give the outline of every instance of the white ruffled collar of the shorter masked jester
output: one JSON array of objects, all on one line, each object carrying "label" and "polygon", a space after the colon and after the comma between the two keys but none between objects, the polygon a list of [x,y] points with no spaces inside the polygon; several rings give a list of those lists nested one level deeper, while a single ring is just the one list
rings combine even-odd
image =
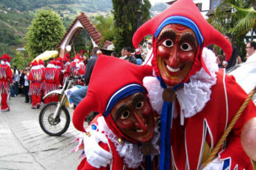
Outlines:
[{"label": "white ruffled collar of the shorter masked jester", "polygon": [[[100,133],[104,133],[108,136],[109,140],[113,142],[116,147],[116,151],[118,151],[119,156],[124,159],[124,163],[129,168],[137,168],[140,166],[140,163],[143,161],[143,153],[141,153],[141,147],[138,145],[131,143],[127,140],[124,140],[122,144],[118,142],[118,138],[113,131],[109,129],[107,123],[104,118],[101,116],[98,118],[98,131]],[[154,129],[154,138],[152,139],[152,145],[156,149],[156,153],[152,153],[152,158],[158,154],[159,146],[157,142],[160,138],[160,133],[158,132],[158,128]]]}]

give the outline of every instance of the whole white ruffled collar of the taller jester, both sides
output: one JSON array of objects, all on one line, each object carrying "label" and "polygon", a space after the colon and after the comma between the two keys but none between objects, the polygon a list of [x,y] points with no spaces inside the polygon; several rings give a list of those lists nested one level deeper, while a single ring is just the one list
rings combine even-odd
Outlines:
[{"label": "whole white ruffled collar of the taller jester, both sides", "polygon": [[[196,74],[190,76],[190,82],[184,83],[184,87],[176,91],[176,96],[181,106],[181,125],[183,125],[184,118],[190,118],[205,107],[206,103],[210,100],[212,93],[211,87],[216,84],[216,73],[219,68],[216,63],[216,56],[207,48],[203,48],[202,52],[203,61],[208,68],[211,75],[209,75],[203,68]],[[145,81],[144,86],[147,88],[150,102],[152,107],[161,114],[161,107],[163,105],[163,88],[157,79],[154,81]],[[159,107],[160,106],[160,107]],[[173,103],[173,116],[177,117],[175,102]]]}]

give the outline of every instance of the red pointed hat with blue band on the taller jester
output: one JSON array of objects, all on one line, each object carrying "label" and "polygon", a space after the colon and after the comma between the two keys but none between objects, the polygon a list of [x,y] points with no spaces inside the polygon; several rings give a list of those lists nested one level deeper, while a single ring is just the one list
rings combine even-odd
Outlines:
[{"label": "red pointed hat with blue band on the taller jester", "polygon": [[138,44],[140,43],[140,41],[143,40],[145,36],[147,36],[148,34],[153,35],[152,45],[154,58],[152,59],[152,66],[154,67],[156,76],[161,76],[158,71],[158,65],[156,63],[156,41],[158,39],[159,33],[165,27],[165,25],[172,23],[185,25],[193,30],[194,34],[196,35],[196,40],[199,44],[199,48],[196,52],[194,65],[188,73],[187,77],[185,78],[184,82],[188,81],[188,78],[195,72],[199,71],[201,67],[203,67],[204,70],[208,72],[208,74],[210,74],[201,57],[203,47],[206,47],[210,44],[218,45],[225,52],[226,61],[230,59],[230,56],[232,54],[232,46],[224,38],[224,36],[217,30],[215,30],[212,25],[210,25],[210,23],[208,23],[203,18],[201,12],[192,0],[178,0],[161,14],[158,14],[158,16],[150,19],[140,28],[138,28],[132,39],[134,47],[137,48]]}]

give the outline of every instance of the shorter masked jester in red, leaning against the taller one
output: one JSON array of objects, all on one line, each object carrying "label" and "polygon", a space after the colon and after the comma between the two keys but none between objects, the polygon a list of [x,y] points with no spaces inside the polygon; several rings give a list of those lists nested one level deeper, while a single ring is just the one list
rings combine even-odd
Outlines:
[{"label": "shorter masked jester in red, leaning against the taller one", "polygon": [[[95,136],[100,146],[113,154],[111,163],[107,162],[101,169],[139,169],[143,153],[158,154],[159,135],[157,132],[154,134],[155,115],[147,89],[143,86],[143,78],[151,75],[152,67],[149,65],[138,66],[111,56],[98,57],[86,97],[75,108],[73,125],[79,131],[86,132],[80,137],[84,149],[90,147],[89,138]],[[85,130],[84,120],[91,111],[98,111],[100,115]],[[97,149],[93,149],[96,152]],[[92,162],[92,165],[89,164],[90,159],[86,156],[77,169],[98,169],[93,167]],[[97,157],[92,159],[101,161]],[[152,167],[150,158],[146,164]]]}]

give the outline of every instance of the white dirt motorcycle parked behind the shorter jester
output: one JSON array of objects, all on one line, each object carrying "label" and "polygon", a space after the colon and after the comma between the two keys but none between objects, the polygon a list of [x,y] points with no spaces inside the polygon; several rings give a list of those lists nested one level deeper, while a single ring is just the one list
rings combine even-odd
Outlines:
[{"label": "white dirt motorcycle parked behind the shorter jester", "polygon": [[[68,129],[71,118],[65,104],[67,100],[70,101],[69,95],[71,92],[78,89],[79,86],[76,86],[76,84],[79,84],[79,82],[80,77],[69,76],[66,78],[62,89],[56,89],[44,96],[44,98],[52,94],[61,96],[59,102],[51,102],[44,105],[39,114],[40,127],[49,136],[61,136]],[[69,107],[72,108],[72,104],[69,104]],[[96,113],[92,112],[86,117],[86,122],[90,123],[95,115]]]}]

